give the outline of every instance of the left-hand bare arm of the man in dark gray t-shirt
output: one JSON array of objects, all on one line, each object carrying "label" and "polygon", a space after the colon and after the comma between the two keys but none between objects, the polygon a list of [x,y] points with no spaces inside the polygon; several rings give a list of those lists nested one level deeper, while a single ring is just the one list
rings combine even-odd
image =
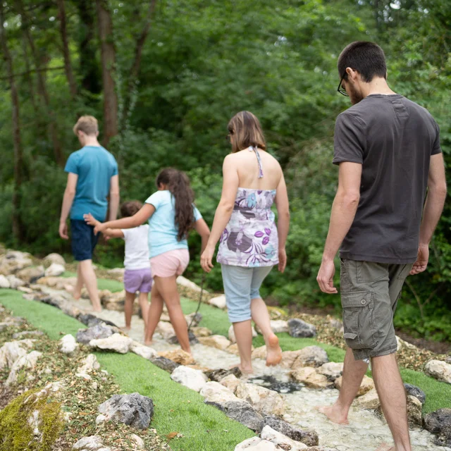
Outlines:
[{"label": "left-hand bare arm of the man in dark gray t-shirt", "polygon": [[338,292],[333,286],[335,264],[333,259],[340,249],[342,241],[352,226],[359,206],[362,164],[340,163],[338,190],[332,205],[329,233],[324,247],[323,261],[319,268],[318,280],[321,291],[333,294]]}]

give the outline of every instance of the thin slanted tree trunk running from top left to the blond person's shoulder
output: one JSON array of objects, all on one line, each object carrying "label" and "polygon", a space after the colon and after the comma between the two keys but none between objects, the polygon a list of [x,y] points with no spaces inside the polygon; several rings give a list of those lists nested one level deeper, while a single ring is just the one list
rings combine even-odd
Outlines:
[{"label": "thin slanted tree trunk running from top left to the blond person's shoulder", "polygon": [[30,33],[30,23],[28,21],[28,16],[27,13],[25,12],[25,8],[23,7],[22,0],[16,0],[16,6],[22,19],[23,31],[25,37],[27,38],[28,45],[30,46],[32,58],[35,61],[35,66],[37,69],[37,89],[39,94],[42,96],[42,99],[44,99],[44,105],[47,109],[47,117],[49,118],[49,132],[51,141],[54,146],[55,161],[58,164],[58,166],[63,166],[64,165],[63,150],[61,148],[61,142],[58,137],[58,130],[56,128],[54,113],[53,111],[51,111],[50,107],[49,94],[47,93],[47,87],[45,85],[44,71],[39,70],[41,62],[39,61],[39,54],[37,53],[35,42],[33,41],[32,35]]}]

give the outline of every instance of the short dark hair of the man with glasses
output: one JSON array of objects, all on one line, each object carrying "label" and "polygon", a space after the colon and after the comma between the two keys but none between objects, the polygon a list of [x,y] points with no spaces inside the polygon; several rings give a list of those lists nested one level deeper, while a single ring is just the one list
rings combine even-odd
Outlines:
[{"label": "short dark hair of the man with glasses", "polygon": [[338,74],[347,79],[346,68],[357,70],[362,80],[371,82],[374,77],[387,78],[387,63],[383,49],[374,42],[356,41],[347,45],[338,57]]}]

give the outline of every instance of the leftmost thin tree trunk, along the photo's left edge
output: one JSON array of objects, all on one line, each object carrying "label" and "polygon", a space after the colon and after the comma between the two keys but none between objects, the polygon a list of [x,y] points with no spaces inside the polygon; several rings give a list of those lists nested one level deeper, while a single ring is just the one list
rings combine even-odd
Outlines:
[{"label": "leftmost thin tree trunk, along the photo's left edge", "polygon": [[13,236],[22,241],[23,227],[20,221],[20,187],[22,185],[22,142],[20,141],[20,116],[19,116],[19,96],[14,79],[13,59],[8,48],[8,41],[5,35],[4,5],[0,1],[0,39],[3,57],[8,71],[9,87],[11,89],[11,111],[13,121],[13,143],[14,143],[14,190],[13,190]]}]

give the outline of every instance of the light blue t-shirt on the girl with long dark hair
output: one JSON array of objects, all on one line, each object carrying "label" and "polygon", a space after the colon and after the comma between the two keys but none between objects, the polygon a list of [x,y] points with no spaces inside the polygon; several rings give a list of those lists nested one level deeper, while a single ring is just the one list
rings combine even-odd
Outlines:
[{"label": "light blue t-shirt on the girl with long dark hair", "polygon": [[[157,191],[147,199],[155,212],[149,219],[150,258],[174,249],[188,249],[187,240],[178,241],[178,230],[175,228],[175,198],[168,190]],[[199,210],[193,205],[194,221],[202,218]]]}]

